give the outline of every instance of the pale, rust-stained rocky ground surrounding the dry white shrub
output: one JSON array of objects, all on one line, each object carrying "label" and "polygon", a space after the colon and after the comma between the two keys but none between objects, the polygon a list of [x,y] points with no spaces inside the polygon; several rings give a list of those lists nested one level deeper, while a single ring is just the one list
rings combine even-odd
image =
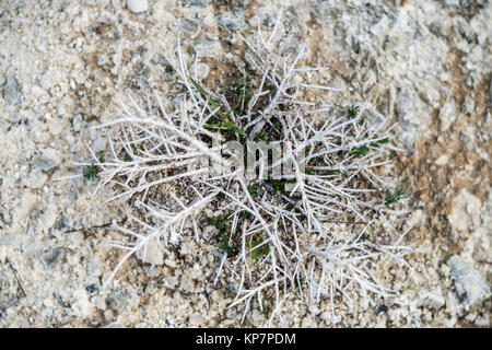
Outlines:
[{"label": "pale, rust-stained rocky ground surrounding the dry white shrub", "polygon": [[[192,236],[159,265],[133,258],[102,289],[120,252],[104,225],[125,205],[93,196],[73,162],[91,126],[129,91],[172,93],[164,54],[179,34],[207,86],[244,55],[236,32],[271,31],[283,5],[284,45],[305,43],[333,103],[366,102],[398,124],[410,150],[396,161],[412,209],[413,271],[388,267],[397,295],[368,307],[291,301],[285,326],[490,327],[492,250],[489,1],[87,0],[0,3],[0,326],[241,326],[231,285]],[[103,194],[104,195],[104,194]],[[103,226],[103,228],[102,228]],[[243,326],[261,326],[254,308]]]}]

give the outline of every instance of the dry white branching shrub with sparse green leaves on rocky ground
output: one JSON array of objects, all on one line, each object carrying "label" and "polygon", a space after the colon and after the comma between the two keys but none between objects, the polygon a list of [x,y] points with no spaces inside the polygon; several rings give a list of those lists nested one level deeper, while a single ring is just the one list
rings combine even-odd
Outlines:
[{"label": "dry white branching shrub with sparse green leaves on rocky ground", "polygon": [[[167,60],[185,93],[173,101],[173,110],[157,95],[148,97],[145,107],[129,98],[120,103],[115,120],[99,127],[109,136],[110,155],[91,152],[92,161],[80,164],[98,167],[96,190],[105,185],[119,189],[109,200],[140,202],[133,222],[148,232],[117,229],[130,241],[115,243],[126,254],[106,283],[132,254],[147,253],[153,240],[168,249],[171,235],[180,235],[185,223],[197,231],[210,220],[203,210],[211,202],[227,212],[221,219],[226,231],[216,234],[210,248],[219,257],[214,283],[234,279],[236,298],[230,306],[243,303],[246,315],[256,302],[270,312],[268,325],[273,316],[283,319],[290,295],[326,298],[333,314],[337,295],[387,296],[391,291],[374,269],[383,257],[410,267],[403,259],[411,252],[402,244],[407,232],[386,244],[373,235],[374,225],[384,222],[391,240],[397,230],[388,218],[403,212],[384,205],[394,189],[389,156],[398,151],[389,144],[391,128],[386,121],[370,124],[362,110],[353,117],[345,106],[303,101],[306,89],[339,89],[303,81],[306,72],[325,69],[300,67],[304,47],[294,55],[272,51],[280,26],[267,40],[260,27],[255,40],[243,37],[258,77],[257,89],[249,91],[243,72],[239,103],[198,89],[178,49]],[[280,166],[291,172],[258,180],[248,178],[244,167],[232,170],[232,158],[215,144],[227,139],[223,131],[242,142],[269,135],[273,144],[285,148],[262,171],[270,174]]]}]

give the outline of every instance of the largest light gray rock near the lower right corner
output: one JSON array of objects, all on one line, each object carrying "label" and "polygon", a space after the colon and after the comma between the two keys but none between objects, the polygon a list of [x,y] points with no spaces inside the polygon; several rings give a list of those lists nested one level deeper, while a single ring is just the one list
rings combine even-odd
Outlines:
[{"label": "largest light gray rock near the lower right corner", "polygon": [[470,305],[479,304],[487,298],[489,285],[483,281],[479,271],[457,255],[450,257],[447,264],[450,267],[450,273],[459,296],[465,296]]}]

